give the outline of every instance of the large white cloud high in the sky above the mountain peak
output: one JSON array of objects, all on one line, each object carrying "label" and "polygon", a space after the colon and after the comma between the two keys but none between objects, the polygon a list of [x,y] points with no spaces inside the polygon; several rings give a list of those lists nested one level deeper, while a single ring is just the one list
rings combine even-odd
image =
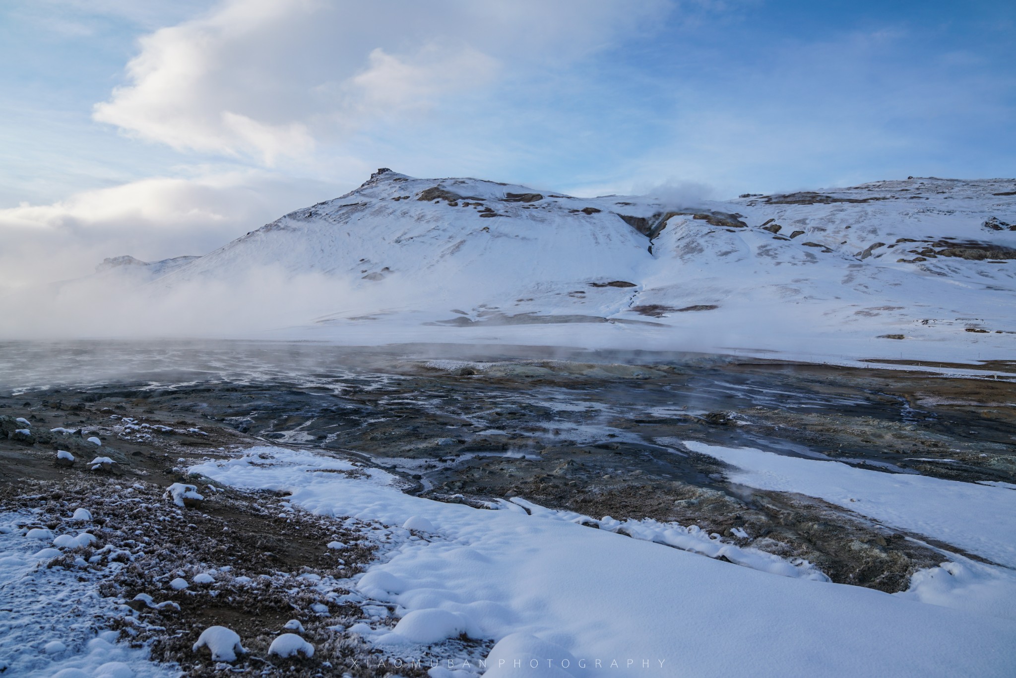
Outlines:
[{"label": "large white cloud high in the sky above the mountain peak", "polygon": [[379,119],[416,118],[500,75],[538,77],[665,6],[229,0],[141,38],[128,84],[93,117],[177,149],[272,165]]}]

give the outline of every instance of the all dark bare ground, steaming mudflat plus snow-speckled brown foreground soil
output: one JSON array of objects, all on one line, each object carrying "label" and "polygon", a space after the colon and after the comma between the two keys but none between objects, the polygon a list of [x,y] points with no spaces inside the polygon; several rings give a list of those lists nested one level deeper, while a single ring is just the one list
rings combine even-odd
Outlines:
[{"label": "all dark bare ground, steaming mudflat plus snow-speckled brown foreground soil", "polygon": [[[930,540],[814,498],[733,485],[721,463],[656,441],[750,445],[884,473],[1016,483],[1016,387],[1001,378],[538,349],[509,360],[507,352],[470,356],[463,347],[426,355],[420,347],[309,345],[6,348],[8,360],[50,360],[76,383],[41,386],[57,380],[45,371],[10,372],[11,387],[0,391],[0,508],[43,507],[58,520],[62,502],[88,493],[102,504],[97,515],[108,543],[158,544],[142,549],[104,594],[177,602],[179,611],[134,603],[139,614],[124,633],[195,676],[215,672],[207,655],[190,651],[215,623],[241,633],[252,652],[238,666],[256,673],[391,670],[344,630],[365,617],[364,603],[322,603],[308,583],[313,576],[300,577],[341,580],[360,571],[392,539],[376,538],[387,535],[383,526],[291,510],[280,516],[284,498],[264,493],[204,492],[198,508],[162,498],[170,484],[187,480],[186,467],[249,445],[309,447],[385,468],[405,480],[406,491],[441,501],[480,507],[518,496],[594,517],[698,525],[741,546],[807,559],[834,581],[886,592],[905,590],[915,570],[944,560]],[[110,366],[109,356],[127,353]],[[17,417],[30,422],[30,436],[15,432],[23,428]],[[50,433],[55,427],[71,432]],[[57,449],[72,452],[74,466],[57,467]],[[113,470],[88,471],[97,454],[113,458]],[[329,552],[329,540],[351,546]],[[225,566],[232,570],[224,570],[214,596],[167,594],[169,572],[190,578]],[[237,576],[257,585],[237,585]],[[327,612],[313,612],[315,602]],[[269,661],[267,644],[291,618],[304,623],[317,652],[311,660]],[[484,648],[468,642],[460,651],[482,657]]]}]

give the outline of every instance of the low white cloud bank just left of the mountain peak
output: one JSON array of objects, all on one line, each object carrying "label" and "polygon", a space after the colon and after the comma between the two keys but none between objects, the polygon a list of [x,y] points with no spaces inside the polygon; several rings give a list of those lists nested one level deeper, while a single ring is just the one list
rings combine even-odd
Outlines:
[{"label": "low white cloud bank just left of the mountain peak", "polygon": [[0,209],[0,291],[85,275],[110,256],[206,254],[341,192],[317,181],[234,172],[144,179],[52,204]]}]

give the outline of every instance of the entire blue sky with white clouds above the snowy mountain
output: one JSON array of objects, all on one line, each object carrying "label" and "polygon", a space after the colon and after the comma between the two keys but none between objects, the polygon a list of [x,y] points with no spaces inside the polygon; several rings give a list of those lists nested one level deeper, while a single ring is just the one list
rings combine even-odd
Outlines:
[{"label": "entire blue sky with white clouds above the snowy mountain", "polygon": [[13,0],[0,229],[90,268],[380,166],[715,198],[1012,177],[1014,37],[1004,2]]}]

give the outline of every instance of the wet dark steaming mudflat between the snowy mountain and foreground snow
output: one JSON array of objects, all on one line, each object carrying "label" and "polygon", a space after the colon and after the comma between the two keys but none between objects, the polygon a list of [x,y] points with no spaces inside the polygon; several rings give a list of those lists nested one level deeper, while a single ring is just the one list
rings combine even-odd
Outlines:
[{"label": "wet dark steaming mudflat between the snowy mountain and foreground snow", "polygon": [[[748,491],[713,457],[661,439],[1016,483],[1016,386],[918,368],[226,343],[8,345],[0,367],[7,482],[89,477],[80,463],[54,467],[57,448],[107,455],[114,477],[167,486],[208,456],[304,447],[387,469],[407,492],[441,501],[517,496],[597,518],[697,525],[887,592],[944,556],[923,536],[818,499]],[[17,417],[30,439],[12,433]],[[47,433],[56,427],[70,433]]]}]

